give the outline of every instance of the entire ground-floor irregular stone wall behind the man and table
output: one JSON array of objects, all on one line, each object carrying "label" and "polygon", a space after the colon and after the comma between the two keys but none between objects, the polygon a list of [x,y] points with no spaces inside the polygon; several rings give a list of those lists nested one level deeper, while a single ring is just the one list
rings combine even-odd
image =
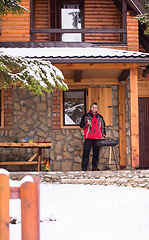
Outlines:
[{"label": "entire ground-floor irregular stone wall behind the man and table", "polygon": [[[107,87],[107,86],[106,86]],[[111,87],[111,86],[110,86]],[[126,86],[126,105],[129,102],[129,86]],[[112,86],[113,126],[106,127],[108,137],[119,137],[118,126],[118,86]],[[130,117],[126,106],[127,163],[130,166]],[[34,142],[50,141],[51,150],[45,149],[42,157],[51,157],[52,171],[80,171],[83,151],[82,129],[53,129],[52,127],[52,93],[37,96],[29,91],[13,87],[13,122],[11,130],[0,130],[1,142],[14,142],[15,134],[21,140],[32,137]],[[119,147],[116,147],[119,156]],[[28,160],[36,149],[0,149],[0,161]],[[109,148],[100,151],[100,170],[108,168]],[[90,156],[88,170],[91,170]],[[113,159],[113,156],[112,156]],[[114,162],[113,162],[114,163]],[[9,171],[37,170],[37,166],[8,166]],[[112,170],[115,165],[112,165]]]}]

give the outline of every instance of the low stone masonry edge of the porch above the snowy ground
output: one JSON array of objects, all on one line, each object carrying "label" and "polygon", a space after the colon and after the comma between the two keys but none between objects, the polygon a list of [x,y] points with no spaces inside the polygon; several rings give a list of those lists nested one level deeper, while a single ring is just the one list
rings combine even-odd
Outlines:
[{"label": "low stone masonry edge of the porch above the snowy ground", "polygon": [[24,176],[39,177],[41,182],[56,184],[99,184],[119,187],[139,187],[149,189],[149,170],[124,171],[63,171],[63,172],[10,172],[11,180],[21,180]]}]

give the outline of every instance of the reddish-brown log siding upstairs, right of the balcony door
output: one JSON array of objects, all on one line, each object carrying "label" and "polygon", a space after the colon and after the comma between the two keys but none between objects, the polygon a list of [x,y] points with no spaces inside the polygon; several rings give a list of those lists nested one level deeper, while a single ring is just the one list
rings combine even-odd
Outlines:
[{"label": "reddish-brown log siding upstairs, right of the balcony door", "polygon": [[[85,28],[117,29],[121,26],[121,12],[112,0],[85,0]],[[120,34],[85,34],[86,42],[117,42]]]}]

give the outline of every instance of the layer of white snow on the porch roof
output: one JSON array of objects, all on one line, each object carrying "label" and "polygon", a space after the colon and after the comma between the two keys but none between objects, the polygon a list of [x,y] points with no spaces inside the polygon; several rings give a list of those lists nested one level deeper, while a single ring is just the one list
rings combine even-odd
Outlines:
[{"label": "layer of white snow on the porch roof", "polygon": [[4,54],[11,55],[11,56],[22,56],[22,57],[29,57],[29,58],[97,58],[97,57],[142,57],[148,58],[148,53],[142,52],[134,52],[134,51],[125,51],[125,50],[117,50],[117,49],[109,49],[109,48],[0,48]]}]

